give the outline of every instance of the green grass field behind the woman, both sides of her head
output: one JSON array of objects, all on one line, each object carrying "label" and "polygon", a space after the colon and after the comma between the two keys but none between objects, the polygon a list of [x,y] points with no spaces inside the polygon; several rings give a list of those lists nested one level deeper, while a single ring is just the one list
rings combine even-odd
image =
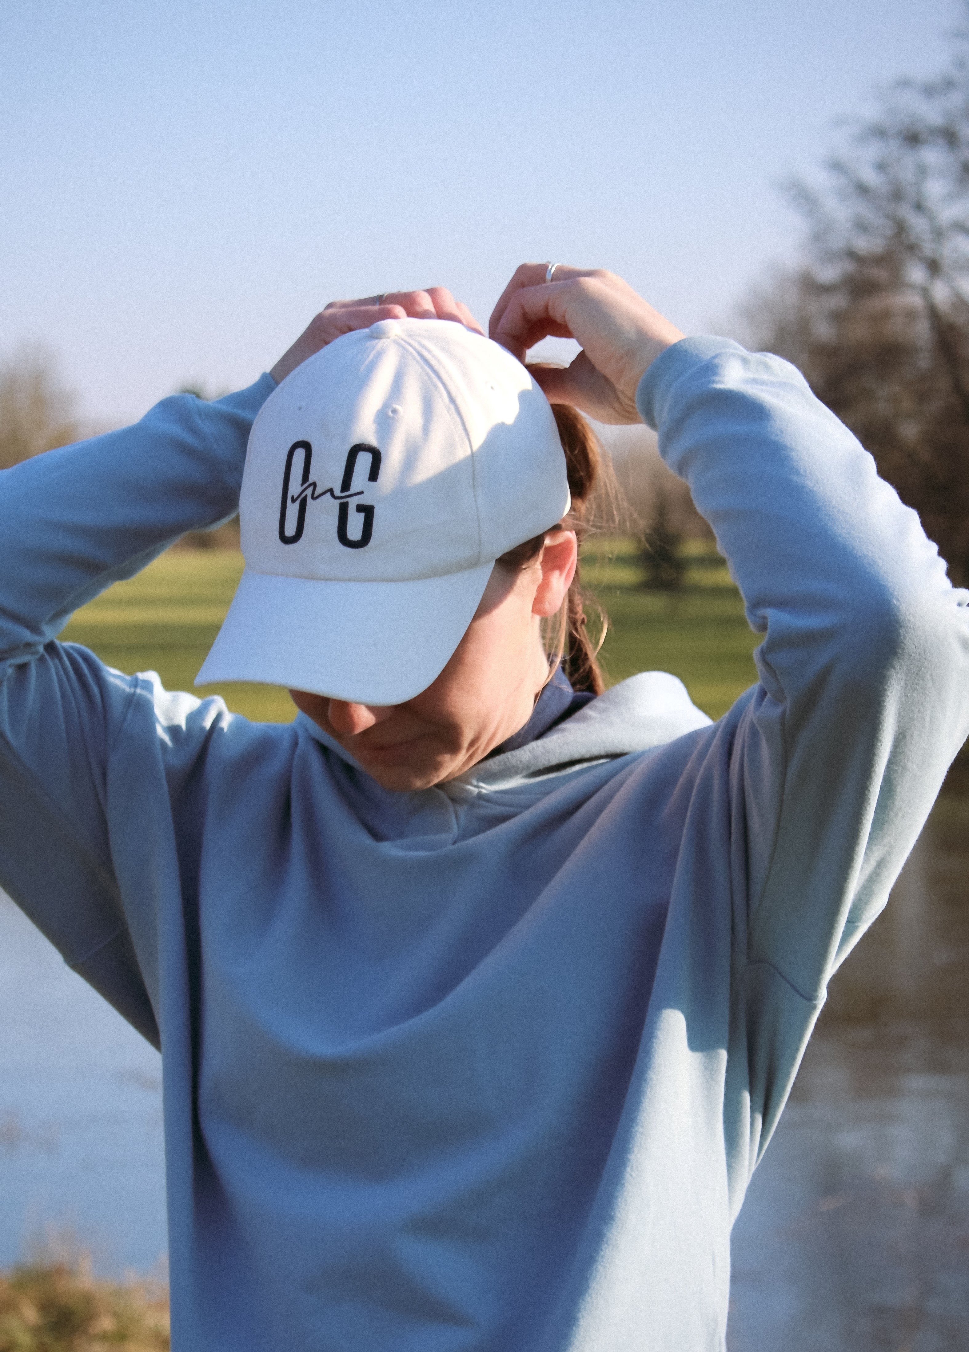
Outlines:
[{"label": "green grass field behind the woman, both sides of her head", "polygon": [[[719,557],[700,545],[687,557],[682,591],[645,592],[635,544],[595,541],[584,552],[584,580],[610,615],[601,654],[610,680],[673,672],[695,703],[719,718],[757,679],[750,660],[757,639]],[[242,557],[230,549],[172,550],[80,610],[62,637],[119,671],[157,671],[169,690],[191,691],[241,572]],[[289,722],[295,714],[274,685],[207,685],[197,694],[219,694],[253,719]]]}]

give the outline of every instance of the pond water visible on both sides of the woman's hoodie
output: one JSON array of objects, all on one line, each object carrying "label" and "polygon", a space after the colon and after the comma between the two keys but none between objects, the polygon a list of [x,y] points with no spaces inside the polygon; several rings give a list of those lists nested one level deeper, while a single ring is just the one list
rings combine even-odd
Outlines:
[{"label": "pond water visible on both sides of the woman's hoodie", "polygon": [[[969,795],[831,986],[734,1229],[731,1352],[969,1352]],[[159,1059],[0,895],[0,1265],[166,1248]]]}]

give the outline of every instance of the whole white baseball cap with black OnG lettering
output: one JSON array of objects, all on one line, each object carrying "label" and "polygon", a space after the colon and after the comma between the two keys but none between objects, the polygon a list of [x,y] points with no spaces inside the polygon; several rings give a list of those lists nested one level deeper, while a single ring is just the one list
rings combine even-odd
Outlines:
[{"label": "whole white baseball cap with black OnG lettering", "polygon": [[508,352],[441,319],[345,334],[253,423],[246,566],[195,683],[412,699],[461,642],[495,560],[568,510],[551,408]]}]

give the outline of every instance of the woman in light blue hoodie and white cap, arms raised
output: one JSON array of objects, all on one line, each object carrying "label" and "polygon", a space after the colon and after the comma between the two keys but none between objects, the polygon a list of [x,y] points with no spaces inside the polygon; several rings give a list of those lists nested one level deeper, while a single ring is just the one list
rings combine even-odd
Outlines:
[{"label": "woman in light blue hoodie and white cap, arms raised", "polygon": [[[966,595],[791,366],[526,265],[492,337],[574,337],[549,399],[658,427],[764,634],[716,725],[657,673],[573,698],[551,416],[446,292],[387,300],[4,475],[0,882],[161,1042],[176,1349],[722,1348],[731,1220],[966,733]],[[235,510],[257,414],[209,662],[292,727],[53,642]]]}]

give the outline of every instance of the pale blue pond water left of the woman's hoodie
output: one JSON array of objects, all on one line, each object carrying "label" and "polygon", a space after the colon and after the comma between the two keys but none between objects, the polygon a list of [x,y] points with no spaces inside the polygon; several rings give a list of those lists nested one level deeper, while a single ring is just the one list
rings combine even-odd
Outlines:
[{"label": "pale blue pond water left of the woman's hoodie", "polygon": [[65,1242],[164,1264],[161,1057],[0,892],[0,1267]]}]

